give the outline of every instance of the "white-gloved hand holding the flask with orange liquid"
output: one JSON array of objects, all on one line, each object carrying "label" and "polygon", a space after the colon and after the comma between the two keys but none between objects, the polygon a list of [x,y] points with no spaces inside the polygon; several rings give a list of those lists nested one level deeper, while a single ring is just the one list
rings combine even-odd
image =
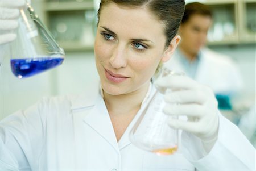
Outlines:
[{"label": "white-gloved hand holding the flask with orange liquid", "polygon": [[170,117],[169,126],[199,137],[209,153],[218,136],[218,103],[213,91],[186,76],[163,77],[155,85],[172,90],[164,95],[164,113],[188,118],[179,120]]}]

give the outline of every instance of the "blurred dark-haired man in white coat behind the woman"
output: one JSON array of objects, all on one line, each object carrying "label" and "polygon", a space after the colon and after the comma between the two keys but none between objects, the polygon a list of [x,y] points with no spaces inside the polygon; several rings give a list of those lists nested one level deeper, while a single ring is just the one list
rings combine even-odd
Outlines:
[{"label": "blurred dark-haired man in white coat behind the woman", "polygon": [[241,74],[227,56],[205,47],[213,16],[207,5],[188,3],[179,28],[181,42],[165,66],[184,72],[214,91],[219,109],[232,109],[230,98],[242,88]]}]

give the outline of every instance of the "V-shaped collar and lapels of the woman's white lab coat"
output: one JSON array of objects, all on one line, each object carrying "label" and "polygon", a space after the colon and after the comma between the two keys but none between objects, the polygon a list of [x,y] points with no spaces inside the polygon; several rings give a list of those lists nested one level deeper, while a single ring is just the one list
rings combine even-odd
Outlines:
[{"label": "V-shaped collar and lapels of the woman's white lab coat", "polygon": [[84,122],[93,128],[94,131],[100,134],[106,141],[108,141],[108,143],[112,145],[115,151],[119,153],[121,149],[131,144],[129,139],[131,128],[133,128],[134,124],[137,122],[138,118],[147,107],[147,104],[155,94],[155,91],[155,87],[150,84],[146,97],[143,99],[141,109],[126,128],[126,131],[122,135],[119,142],[117,142],[114,134],[114,128],[108,114],[108,109],[106,109],[105,106],[100,84],[97,86],[97,90],[93,89],[88,93],[79,95],[79,97],[72,98],[71,109],[81,110],[84,108],[92,107],[92,109],[88,111],[88,114],[86,114]]}]

